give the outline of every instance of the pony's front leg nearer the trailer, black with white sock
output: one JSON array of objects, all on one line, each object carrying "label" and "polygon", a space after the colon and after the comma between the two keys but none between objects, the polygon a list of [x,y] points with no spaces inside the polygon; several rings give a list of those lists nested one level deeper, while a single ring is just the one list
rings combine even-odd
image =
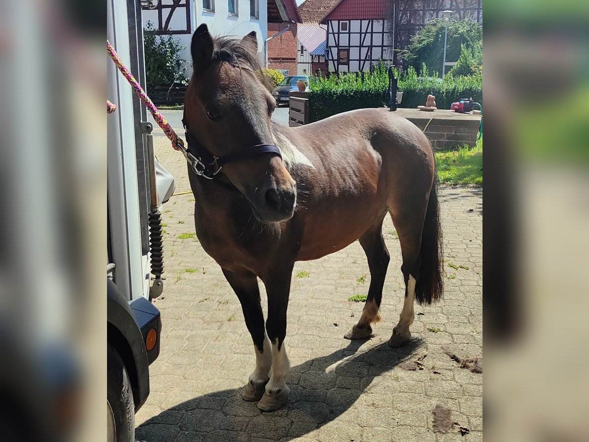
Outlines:
[{"label": "pony's front leg nearer the trailer, black with white sock", "polygon": [[270,378],[272,367],[272,345],[264,328],[264,315],[260,305],[260,291],[256,275],[252,272],[230,272],[223,269],[223,273],[231,288],[236,293],[247,329],[252,335],[254,351],[256,352],[256,368],[252,372],[246,386],[241,390],[241,398],[246,401],[259,401],[264,394],[264,387]]}]

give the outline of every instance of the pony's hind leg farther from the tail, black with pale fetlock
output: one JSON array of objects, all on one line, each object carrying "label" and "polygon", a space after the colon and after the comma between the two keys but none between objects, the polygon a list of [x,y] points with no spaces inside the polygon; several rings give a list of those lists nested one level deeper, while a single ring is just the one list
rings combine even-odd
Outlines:
[{"label": "pony's hind leg farther from the tail, black with pale fetlock", "polygon": [[380,321],[378,314],[382,288],[385,285],[386,269],[389,266],[389,250],[382,238],[382,221],[386,212],[379,216],[376,222],[360,237],[360,245],[368,258],[370,269],[370,288],[366,298],[366,305],[358,324],[344,335],[346,339],[363,339],[372,335],[372,324]]}]

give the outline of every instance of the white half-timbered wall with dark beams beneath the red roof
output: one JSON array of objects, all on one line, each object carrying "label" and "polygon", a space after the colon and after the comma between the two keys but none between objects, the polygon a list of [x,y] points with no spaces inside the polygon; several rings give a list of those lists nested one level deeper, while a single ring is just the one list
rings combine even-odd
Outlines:
[{"label": "white half-timbered wall with dark beams beneath the red roof", "polygon": [[[342,25],[345,23],[346,25]],[[327,68],[335,72],[366,72],[380,59],[393,59],[385,20],[330,20],[327,22]],[[338,50],[348,50],[348,65],[338,63]]]}]

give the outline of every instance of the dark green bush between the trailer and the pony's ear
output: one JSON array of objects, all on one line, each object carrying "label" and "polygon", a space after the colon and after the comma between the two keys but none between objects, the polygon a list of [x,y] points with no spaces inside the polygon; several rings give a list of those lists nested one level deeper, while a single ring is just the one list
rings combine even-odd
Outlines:
[{"label": "dark green bush between the trailer and the pony's ear", "polygon": [[171,35],[156,35],[153,23],[148,21],[143,30],[143,48],[148,91],[173,84],[188,84],[188,79],[184,76],[186,60],[180,58],[180,52],[186,47],[180,45],[179,39],[174,39]]}]

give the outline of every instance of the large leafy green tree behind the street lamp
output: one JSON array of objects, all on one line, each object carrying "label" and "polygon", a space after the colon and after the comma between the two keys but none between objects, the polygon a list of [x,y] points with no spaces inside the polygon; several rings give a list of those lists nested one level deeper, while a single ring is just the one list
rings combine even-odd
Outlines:
[{"label": "large leafy green tree behind the street lamp", "polygon": [[[413,35],[411,44],[401,52],[407,66],[412,66],[421,74],[422,64],[425,63],[434,71],[442,72],[444,62],[444,33],[445,21],[435,18],[429,21],[417,34]],[[481,45],[482,65],[482,28],[475,21],[448,21],[448,44],[446,45],[446,61],[457,61],[462,52],[462,46],[472,52],[472,48]],[[422,74],[427,76],[427,74]]]}]

